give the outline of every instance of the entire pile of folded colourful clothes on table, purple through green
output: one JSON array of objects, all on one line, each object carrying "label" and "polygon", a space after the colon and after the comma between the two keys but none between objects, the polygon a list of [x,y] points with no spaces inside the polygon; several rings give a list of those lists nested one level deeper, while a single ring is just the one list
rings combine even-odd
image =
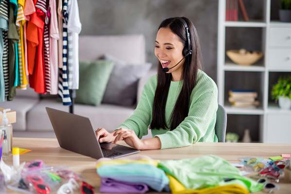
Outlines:
[{"label": "entire pile of folded colourful clothes on table, purple through green", "polygon": [[249,194],[263,184],[241,176],[225,159],[202,156],[158,162],[152,159],[100,159],[101,193]]}]

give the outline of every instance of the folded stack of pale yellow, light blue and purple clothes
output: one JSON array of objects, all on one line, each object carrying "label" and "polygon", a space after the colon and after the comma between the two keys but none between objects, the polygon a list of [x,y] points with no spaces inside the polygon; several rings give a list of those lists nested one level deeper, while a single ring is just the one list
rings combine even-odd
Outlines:
[{"label": "folded stack of pale yellow, light blue and purple clothes", "polygon": [[168,191],[169,179],[152,159],[113,159],[97,163],[101,193],[145,193],[149,188]]}]

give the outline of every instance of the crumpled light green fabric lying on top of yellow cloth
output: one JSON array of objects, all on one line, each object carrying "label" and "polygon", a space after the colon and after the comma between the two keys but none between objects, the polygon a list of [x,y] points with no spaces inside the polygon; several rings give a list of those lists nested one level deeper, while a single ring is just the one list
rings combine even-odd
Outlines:
[{"label": "crumpled light green fabric lying on top of yellow cloth", "polygon": [[217,156],[167,160],[160,162],[158,167],[179,180],[187,189],[202,189],[228,184],[242,185],[250,192],[263,189],[262,184],[241,176],[236,167]]}]

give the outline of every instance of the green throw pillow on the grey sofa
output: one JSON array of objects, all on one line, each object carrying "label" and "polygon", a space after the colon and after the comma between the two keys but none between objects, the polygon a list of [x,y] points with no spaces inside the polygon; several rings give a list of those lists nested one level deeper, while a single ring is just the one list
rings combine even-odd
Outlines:
[{"label": "green throw pillow on the grey sofa", "polygon": [[79,89],[75,102],[86,105],[100,105],[109,81],[113,63],[105,60],[80,62]]}]

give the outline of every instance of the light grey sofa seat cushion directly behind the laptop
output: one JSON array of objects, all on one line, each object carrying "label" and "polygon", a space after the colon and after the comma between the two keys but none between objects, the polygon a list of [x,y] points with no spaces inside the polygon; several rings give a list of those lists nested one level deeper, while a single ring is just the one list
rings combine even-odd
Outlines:
[{"label": "light grey sofa seat cushion directly behind the laptop", "polygon": [[[63,111],[69,111],[69,106],[52,99],[44,99],[33,107],[27,114],[28,131],[52,131],[53,127],[46,113],[45,107],[51,107]],[[74,105],[74,113],[88,117],[93,128],[104,127],[113,131],[120,123],[123,123],[132,113],[133,107],[123,107],[101,104],[99,106]],[[37,118],[37,119],[35,119]]]}]

